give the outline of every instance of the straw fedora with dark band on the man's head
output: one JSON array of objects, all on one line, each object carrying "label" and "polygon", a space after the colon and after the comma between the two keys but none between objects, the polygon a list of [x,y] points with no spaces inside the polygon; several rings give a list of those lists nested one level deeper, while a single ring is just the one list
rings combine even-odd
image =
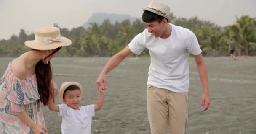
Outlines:
[{"label": "straw fedora with dark band on the man's head", "polygon": [[142,8],[142,10],[147,10],[149,12],[163,16],[164,18],[168,19],[168,22],[171,21],[171,17],[169,16],[169,14],[171,14],[170,7],[164,3],[160,3],[159,1],[152,0],[148,7]]}]

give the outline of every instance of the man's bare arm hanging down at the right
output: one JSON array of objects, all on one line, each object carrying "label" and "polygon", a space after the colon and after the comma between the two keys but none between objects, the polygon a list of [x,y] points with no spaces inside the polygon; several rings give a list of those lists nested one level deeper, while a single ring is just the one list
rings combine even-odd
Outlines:
[{"label": "man's bare arm hanging down at the right", "polygon": [[195,55],[194,58],[197,64],[198,74],[200,76],[200,80],[203,85],[203,96],[202,96],[203,110],[202,111],[205,111],[209,108],[209,105],[210,105],[207,68],[206,68],[205,62],[203,61],[202,54]]}]

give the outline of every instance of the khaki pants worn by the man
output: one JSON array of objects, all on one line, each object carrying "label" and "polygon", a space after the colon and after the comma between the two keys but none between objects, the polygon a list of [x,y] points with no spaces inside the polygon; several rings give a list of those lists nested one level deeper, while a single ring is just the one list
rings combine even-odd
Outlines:
[{"label": "khaki pants worn by the man", "polygon": [[188,94],[147,85],[147,113],[151,134],[184,134],[188,118]]}]

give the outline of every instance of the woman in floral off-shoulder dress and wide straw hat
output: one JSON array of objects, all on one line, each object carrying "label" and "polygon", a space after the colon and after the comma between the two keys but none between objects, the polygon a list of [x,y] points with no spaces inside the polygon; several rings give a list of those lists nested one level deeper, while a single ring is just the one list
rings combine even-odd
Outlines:
[{"label": "woman in floral off-shoulder dress and wide straw hat", "polygon": [[71,41],[56,27],[35,30],[31,48],[11,61],[0,79],[0,134],[47,134],[40,102],[54,96],[50,60]]}]

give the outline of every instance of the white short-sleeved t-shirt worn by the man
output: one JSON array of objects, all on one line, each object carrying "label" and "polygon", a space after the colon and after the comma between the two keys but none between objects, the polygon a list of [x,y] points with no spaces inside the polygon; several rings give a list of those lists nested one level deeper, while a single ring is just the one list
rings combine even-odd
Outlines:
[{"label": "white short-sleeved t-shirt worn by the man", "polygon": [[156,38],[145,29],[135,36],[128,46],[134,54],[141,54],[145,48],[149,49],[151,64],[148,85],[176,93],[187,93],[189,91],[188,54],[199,55],[202,51],[192,31],[169,24],[172,32],[168,38]]}]

